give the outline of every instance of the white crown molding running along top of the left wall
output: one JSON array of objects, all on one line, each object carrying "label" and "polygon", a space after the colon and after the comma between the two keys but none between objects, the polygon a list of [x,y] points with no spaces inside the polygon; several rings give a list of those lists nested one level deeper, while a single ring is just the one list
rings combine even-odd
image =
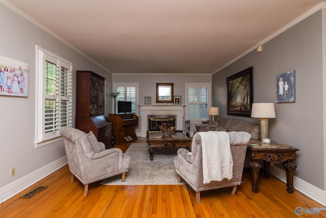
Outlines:
[{"label": "white crown molding running along top of the left wall", "polygon": [[20,16],[22,16],[26,20],[30,21],[31,23],[33,23],[35,26],[37,26],[41,30],[43,30],[46,33],[50,34],[51,36],[55,37],[56,39],[58,39],[59,41],[61,41],[62,43],[64,43],[68,47],[70,47],[72,50],[74,50],[78,54],[84,56],[85,58],[87,58],[88,60],[90,60],[91,62],[93,62],[94,64],[96,64],[97,66],[101,67],[105,71],[110,72],[110,74],[112,74],[112,72],[110,70],[106,69],[103,65],[99,64],[98,62],[96,62],[94,59],[92,59],[91,57],[89,57],[88,55],[86,55],[85,53],[83,53],[82,51],[80,51],[79,49],[77,49],[75,46],[73,46],[72,44],[70,44],[69,42],[67,42],[66,40],[64,40],[62,37],[60,37],[56,33],[52,32],[51,30],[49,30],[48,28],[46,28],[44,25],[42,25],[40,22],[38,22],[37,20],[35,20],[31,16],[29,16],[28,14],[26,14],[22,10],[18,9],[16,6],[14,6],[11,3],[9,3],[7,0],[0,0],[0,3],[3,4],[4,6],[6,6],[7,8],[9,8],[10,10],[12,10],[13,12],[19,14]]}]

